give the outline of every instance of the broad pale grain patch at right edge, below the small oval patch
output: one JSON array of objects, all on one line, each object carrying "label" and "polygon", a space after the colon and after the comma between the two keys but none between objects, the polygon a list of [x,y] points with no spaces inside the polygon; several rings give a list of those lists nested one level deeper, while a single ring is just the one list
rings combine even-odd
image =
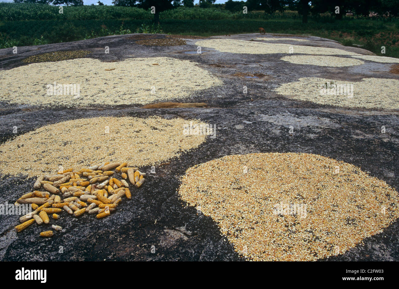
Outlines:
[{"label": "broad pale grain patch at right edge, below the small oval patch", "polygon": [[296,82],[284,83],[275,91],[290,99],[323,105],[399,109],[397,87],[397,79],[363,78],[352,82],[303,77]]}]

